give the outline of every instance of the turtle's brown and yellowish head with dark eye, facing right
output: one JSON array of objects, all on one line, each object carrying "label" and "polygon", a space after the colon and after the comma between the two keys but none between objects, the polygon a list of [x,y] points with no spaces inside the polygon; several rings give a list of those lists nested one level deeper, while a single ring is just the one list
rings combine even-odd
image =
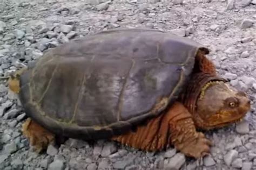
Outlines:
[{"label": "turtle's brown and yellowish head with dark eye, facing right", "polygon": [[196,103],[194,122],[200,129],[214,129],[240,121],[251,109],[243,91],[223,81],[208,82]]}]

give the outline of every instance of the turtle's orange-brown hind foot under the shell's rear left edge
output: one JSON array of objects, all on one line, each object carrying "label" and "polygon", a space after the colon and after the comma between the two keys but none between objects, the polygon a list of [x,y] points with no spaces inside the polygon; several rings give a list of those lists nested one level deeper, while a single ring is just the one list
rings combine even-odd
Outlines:
[{"label": "turtle's orange-brown hind foot under the shell's rear left edge", "polygon": [[49,144],[55,144],[55,134],[44,129],[41,125],[27,118],[22,125],[23,135],[29,139],[30,145],[37,153],[45,150]]}]

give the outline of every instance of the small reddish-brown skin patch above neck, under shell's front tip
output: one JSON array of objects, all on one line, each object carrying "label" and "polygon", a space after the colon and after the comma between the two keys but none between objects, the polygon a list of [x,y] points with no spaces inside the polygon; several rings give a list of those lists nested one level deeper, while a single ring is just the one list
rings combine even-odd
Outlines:
[{"label": "small reddish-brown skin patch above neck, under shell's front tip", "polygon": [[205,52],[201,51],[200,49],[197,52],[195,63],[196,65],[194,69],[196,70],[196,72],[203,72],[212,75],[217,74],[214,63],[211,60],[207,59],[205,56]]}]

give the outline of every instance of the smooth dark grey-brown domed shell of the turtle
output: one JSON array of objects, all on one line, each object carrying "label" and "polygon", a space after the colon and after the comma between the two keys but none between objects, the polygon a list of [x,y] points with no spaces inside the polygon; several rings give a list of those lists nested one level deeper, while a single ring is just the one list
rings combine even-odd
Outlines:
[{"label": "smooth dark grey-brown domed shell of the turtle", "polygon": [[157,116],[188,81],[197,42],[153,29],[115,29],[50,49],[21,75],[26,114],[62,136],[109,138]]}]

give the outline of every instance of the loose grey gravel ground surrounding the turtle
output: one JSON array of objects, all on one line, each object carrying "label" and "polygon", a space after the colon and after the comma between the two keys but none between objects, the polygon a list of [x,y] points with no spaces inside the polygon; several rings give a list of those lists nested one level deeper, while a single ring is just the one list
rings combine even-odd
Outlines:
[{"label": "loose grey gravel ground surrounding the turtle", "polygon": [[26,118],[5,81],[0,83],[0,169],[255,169],[256,1],[0,0],[0,76],[28,66],[46,49],[73,38],[116,27],[170,31],[211,49],[219,74],[245,90],[252,111],[244,121],[205,132],[211,155],[194,160],[174,148],[146,153],[107,140],[69,139],[43,154],[22,136]]}]

